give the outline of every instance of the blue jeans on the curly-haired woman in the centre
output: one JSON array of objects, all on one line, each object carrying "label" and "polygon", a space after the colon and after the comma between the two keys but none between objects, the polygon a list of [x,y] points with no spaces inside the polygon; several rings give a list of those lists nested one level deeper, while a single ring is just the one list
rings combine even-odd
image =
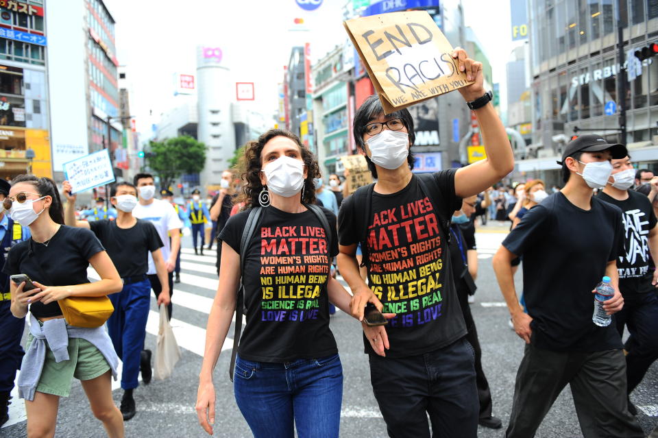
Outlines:
[{"label": "blue jeans on the curly-haired woman in the centre", "polygon": [[238,356],[235,400],[255,438],[337,438],[343,400],[338,354],[286,363]]}]

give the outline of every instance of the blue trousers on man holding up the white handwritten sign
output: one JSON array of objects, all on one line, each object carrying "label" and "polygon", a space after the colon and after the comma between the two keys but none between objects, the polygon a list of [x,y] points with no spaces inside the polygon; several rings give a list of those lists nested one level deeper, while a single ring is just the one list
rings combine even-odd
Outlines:
[{"label": "blue trousers on man holding up the white handwritten sign", "polygon": [[108,319],[108,333],[114,351],[123,361],[121,388],[133,389],[139,386],[139,361],[146,337],[151,283],[145,278],[125,284],[121,292],[112,293],[108,298],[114,306],[114,313]]}]

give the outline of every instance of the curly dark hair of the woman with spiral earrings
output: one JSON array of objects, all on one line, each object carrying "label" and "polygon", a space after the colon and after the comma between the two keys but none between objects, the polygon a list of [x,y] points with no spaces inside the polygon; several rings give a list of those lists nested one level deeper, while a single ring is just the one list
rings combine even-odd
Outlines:
[{"label": "curly dark hair of the woman with spiral earrings", "polygon": [[315,184],[313,179],[320,177],[320,170],[317,166],[317,159],[313,152],[305,147],[300,138],[288,130],[269,130],[258,137],[257,141],[249,141],[245,145],[245,155],[240,159],[239,169],[242,173],[242,180],[245,182],[242,192],[236,199],[236,202],[244,202],[245,209],[260,206],[258,203],[258,194],[263,191],[263,184],[260,183],[261,165],[260,154],[263,147],[274,137],[287,137],[294,141],[302,151],[302,160],[306,168],[306,179],[302,188],[302,204],[315,204]]}]

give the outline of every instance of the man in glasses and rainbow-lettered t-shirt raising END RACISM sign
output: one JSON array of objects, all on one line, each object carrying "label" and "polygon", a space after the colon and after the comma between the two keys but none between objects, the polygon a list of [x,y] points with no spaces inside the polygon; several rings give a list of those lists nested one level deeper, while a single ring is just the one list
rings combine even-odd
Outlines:
[{"label": "man in glasses and rainbow-lettered t-shirt raising END RACISM sign", "polygon": [[[343,201],[339,269],[352,289],[355,317],[363,320],[368,302],[396,314],[387,326],[364,326],[371,384],[391,437],[428,437],[428,415],[435,436],[471,438],[478,429],[474,352],[450,274],[447,223],[463,197],[500,181],[514,158],[485,93],[482,64],[463,49],[452,56],[474,80],[459,92],[480,123],[485,160],[415,175],[408,110],[384,114],[370,96],[354,117],[354,139],[378,181]],[[369,284],[359,275],[358,243]]]}]

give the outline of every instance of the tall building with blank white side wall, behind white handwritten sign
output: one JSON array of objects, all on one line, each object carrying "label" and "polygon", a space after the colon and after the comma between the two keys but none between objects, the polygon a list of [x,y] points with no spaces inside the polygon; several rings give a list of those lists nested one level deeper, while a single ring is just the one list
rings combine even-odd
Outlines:
[{"label": "tall building with blank white side wall, behind white handwritten sign", "polygon": [[[124,127],[119,111],[114,18],[102,0],[69,0],[65,7],[55,2],[49,5],[48,56],[66,60],[48,66],[54,176],[63,180],[65,162],[107,148],[114,175],[123,178],[124,154],[121,150],[117,154],[123,145]],[[62,105],[66,110],[58,110]],[[95,194],[104,195],[104,187]]]}]

